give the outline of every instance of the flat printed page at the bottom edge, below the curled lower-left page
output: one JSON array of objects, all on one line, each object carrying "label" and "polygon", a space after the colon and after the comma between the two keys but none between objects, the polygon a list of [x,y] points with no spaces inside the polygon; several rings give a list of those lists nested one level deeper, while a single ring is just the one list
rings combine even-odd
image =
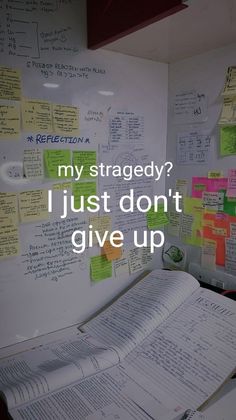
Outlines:
[{"label": "flat printed page at the bottom edge, below the curled lower-left page", "polygon": [[173,419],[172,411],[130,380],[118,366],[21,405],[10,413],[14,420]]}]

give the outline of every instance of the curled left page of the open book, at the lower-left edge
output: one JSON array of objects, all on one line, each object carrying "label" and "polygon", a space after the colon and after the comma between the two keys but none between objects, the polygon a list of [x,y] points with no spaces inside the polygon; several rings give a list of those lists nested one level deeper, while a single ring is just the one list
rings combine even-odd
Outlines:
[{"label": "curled left page of the open book, at the lower-left edge", "polygon": [[64,340],[3,359],[0,363],[0,390],[8,408],[48,394],[119,362],[113,349],[88,334]]}]

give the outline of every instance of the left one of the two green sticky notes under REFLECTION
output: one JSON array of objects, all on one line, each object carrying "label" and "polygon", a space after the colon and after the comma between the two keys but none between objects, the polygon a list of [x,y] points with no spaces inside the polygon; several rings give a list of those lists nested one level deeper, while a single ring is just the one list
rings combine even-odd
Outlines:
[{"label": "left one of the two green sticky notes under REFLECTION", "polygon": [[[70,166],[71,167],[71,154],[70,150],[44,150],[44,165],[45,174],[47,178],[53,179],[65,179],[71,178],[71,169],[61,168],[59,173],[59,166]],[[59,176],[60,175],[60,176]]]}]

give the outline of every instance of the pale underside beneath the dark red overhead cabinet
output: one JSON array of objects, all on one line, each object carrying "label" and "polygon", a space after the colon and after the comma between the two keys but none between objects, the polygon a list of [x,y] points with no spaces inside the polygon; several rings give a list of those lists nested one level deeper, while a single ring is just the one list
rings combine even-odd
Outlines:
[{"label": "pale underside beneath the dark red overhead cabinet", "polygon": [[236,42],[236,0],[185,3],[188,8],[112,42],[105,49],[173,63]]}]

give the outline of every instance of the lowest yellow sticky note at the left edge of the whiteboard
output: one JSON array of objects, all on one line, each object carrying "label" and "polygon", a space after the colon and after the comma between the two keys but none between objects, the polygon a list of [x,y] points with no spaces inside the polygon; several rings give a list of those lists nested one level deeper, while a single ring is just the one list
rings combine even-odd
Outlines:
[{"label": "lowest yellow sticky note at the left edge of the whiteboard", "polygon": [[19,231],[14,225],[1,226],[0,259],[15,257],[20,253]]}]

